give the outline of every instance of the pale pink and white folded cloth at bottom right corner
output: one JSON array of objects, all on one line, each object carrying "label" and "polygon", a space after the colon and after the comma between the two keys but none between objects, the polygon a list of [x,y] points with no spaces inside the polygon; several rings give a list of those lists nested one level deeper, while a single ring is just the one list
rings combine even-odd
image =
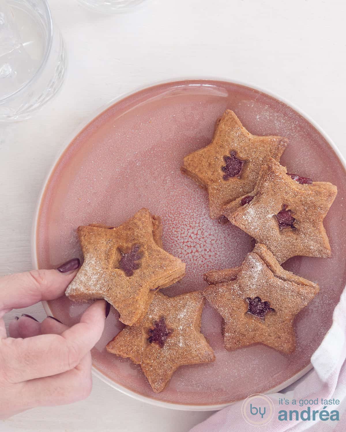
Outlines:
[{"label": "pale pink and white folded cloth at bottom right corner", "polygon": [[[274,415],[263,426],[253,426],[247,423],[242,416],[243,401],[234,403],[215,413],[201,424],[195,426],[190,432],[283,432],[283,431],[313,431],[313,432],[341,432],[346,431],[346,289],[340,297],[340,302],[333,312],[333,324],[328,330],[324,340],[311,356],[314,369],[280,393],[268,394],[274,404]],[[320,419],[319,414],[315,420],[302,420],[300,412],[307,409],[307,405],[279,404],[279,399],[286,398],[299,401],[316,400],[317,405],[311,405],[312,410],[337,410],[339,420],[326,419],[325,412]],[[338,399],[339,404],[324,405],[323,400]],[[298,410],[299,419],[279,420],[280,410]],[[344,415],[343,415],[344,414]],[[328,417],[328,416],[327,416]],[[336,414],[333,416],[336,418]],[[282,418],[282,417],[281,417]]]}]

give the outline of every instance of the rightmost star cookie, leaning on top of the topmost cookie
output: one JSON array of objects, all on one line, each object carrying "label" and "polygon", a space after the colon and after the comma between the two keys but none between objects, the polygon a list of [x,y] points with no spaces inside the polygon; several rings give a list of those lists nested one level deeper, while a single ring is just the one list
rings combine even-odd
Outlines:
[{"label": "rightmost star cookie, leaning on top of the topmost cookie", "polygon": [[295,255],[329,257],[323,219],[336,193],[333,184],[288,174],[268,158],[254,191],[225,206],[224,215],[266,245],[280,263]]}]

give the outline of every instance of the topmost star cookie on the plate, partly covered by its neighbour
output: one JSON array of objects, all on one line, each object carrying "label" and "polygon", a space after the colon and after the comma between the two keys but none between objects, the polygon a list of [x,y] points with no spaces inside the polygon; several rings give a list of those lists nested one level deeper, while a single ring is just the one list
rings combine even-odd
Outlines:
[{"label": "topmost star cookie on the plate, partly covered by its neighbour", "polygon": [[218,219],[224,205],[253,191],[266,157],[279,161],[286,146],[282,137],[252,135],[226,110],[211,143],[186,156],[181,170],[208,190],[210,217]]}]

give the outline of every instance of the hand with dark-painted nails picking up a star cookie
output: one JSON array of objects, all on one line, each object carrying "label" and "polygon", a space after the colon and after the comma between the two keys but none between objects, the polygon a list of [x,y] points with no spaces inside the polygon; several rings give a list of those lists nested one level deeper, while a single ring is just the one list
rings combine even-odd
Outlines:
[{"label": "hand with dark-painted nails picking up a star cookie", "polygon": [[104,300],[67,327],[47,317],[42,323],[22,315],[9,324],[3,315],[41,300],[57,299],[76,276],[79,260],[58,270],[33,270],[0,278],[0,419],[37,406],[63,405],[86,398],[91,391],[90,349],[105,323]]}]

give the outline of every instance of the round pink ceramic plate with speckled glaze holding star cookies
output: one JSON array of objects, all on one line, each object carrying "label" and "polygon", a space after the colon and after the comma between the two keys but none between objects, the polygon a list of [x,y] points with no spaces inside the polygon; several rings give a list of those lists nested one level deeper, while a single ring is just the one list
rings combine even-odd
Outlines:
[{"label": "round pink ceramic plate with speckled glaze holding star cookies", "polygon": [[[338,195],[324,221],[333,256],[295,257],[284,264],[320,285],[316,299],[295,321],[294,354],[263,345],[225,351],[221,318],[207,304],[202,332],[216,361],[179,368],[160,394],[154,394],[138,366],[106,352],[106,343],[122,328],[112,309],[93,349],[96,375],[126,394],[178,409],[218,409],[249,394],[279,390],[311,367],[311,354],[330,327],[346,282],[346,176],[335,146],[297,110],[257,89],[210,79],[163,83],[112,103],[77,134],[50,173],[35,220],[34,262],[51,268],[82,258],[77,226],[117,226],[147,207],[162,216],[165,249],[186,263],[183,280],[163,291],[176,295],[202,289],[203,273],[237,266],[253,248],[240,229],[209,218],[205,191],[179,171],[183,156],[210,142],[215,120],[226,108],[251,133],[289,139],[281,159],[288,172],[337,185]],[[49,308],[71,325],[86,305],[63,297]]]}]

